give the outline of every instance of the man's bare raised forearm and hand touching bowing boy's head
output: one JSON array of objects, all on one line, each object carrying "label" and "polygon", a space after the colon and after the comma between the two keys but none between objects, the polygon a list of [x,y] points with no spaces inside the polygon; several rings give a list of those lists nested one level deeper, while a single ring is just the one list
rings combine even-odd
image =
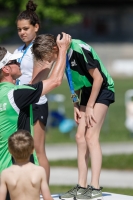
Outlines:
[{"label": "man's bare raised forearm and hand touching bowing boy's head", "polygon": [[62,34],[62,39],[60,39],[60,34],[57,36],[56,43],[59,48],[58,58],[49,78],[43,81],[42,95],[49,93],[51,90],[59,86],[63,79],[66,67],[66,53],[71,42],[71,37],[66,33]]}]

